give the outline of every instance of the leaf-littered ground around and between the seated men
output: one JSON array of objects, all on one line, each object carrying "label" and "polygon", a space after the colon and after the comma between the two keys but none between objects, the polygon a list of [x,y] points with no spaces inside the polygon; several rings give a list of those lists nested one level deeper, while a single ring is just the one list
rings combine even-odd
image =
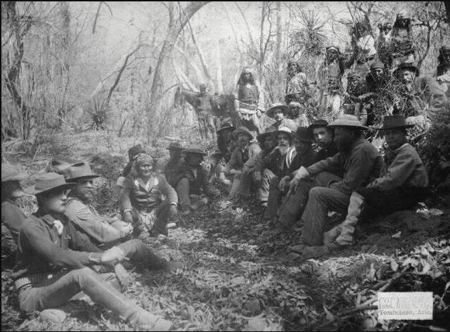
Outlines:
[{"label": "leaf-littered ground around and between the seated men", "polygon": [[[188,141],[188,134],[184,139]],[[13,154],[8,161],[35,174],[54,154],[91,160],[103,175],[98,181],[98,208],[110,214],[117,207],[115,179],[134,143],[102,133],[59,136],[43,142],[35,155]],[[165,146],[167,142],[150,150],[164,158]],[[28,182],[32,184],[32,178]],[[165,274],[135,267],[131,272],[135,282],[126,293],[170,319],[179,331],[448,329],[450,209],[443,202],[437,199],[414,213],[379,218],[359,230],[356,245],[302,262],[289,252],[299,232],[280,233],[263,222],[262,211],[252,200],[232,204],[223,196],[207,205],[198,200],[191,215],[178,217],[169,238],[153,245],[168,260],[184,262],[184,269]],[[31,200],[24,204],[32,211]],[[433,291],[434,320],[378,321],[374,305],[380,290]],[[1,299],[5,331],[131,330],[96,306],[63,324],[41,322],[37,314],[20,315],[9,272],[3,268]]]}]

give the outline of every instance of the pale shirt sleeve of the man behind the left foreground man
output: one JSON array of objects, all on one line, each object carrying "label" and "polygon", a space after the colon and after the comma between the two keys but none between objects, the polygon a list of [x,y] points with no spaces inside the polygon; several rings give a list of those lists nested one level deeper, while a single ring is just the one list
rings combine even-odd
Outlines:
[{"label": "pale shirt sleeve of the man behind the left foreground man", "polygon": [[71,200],[68,203],[65,215],[99,243],[111,243],[122,238],[118,229],[105,222],[103,217],[96,215],[87,205],[78,200]]}]

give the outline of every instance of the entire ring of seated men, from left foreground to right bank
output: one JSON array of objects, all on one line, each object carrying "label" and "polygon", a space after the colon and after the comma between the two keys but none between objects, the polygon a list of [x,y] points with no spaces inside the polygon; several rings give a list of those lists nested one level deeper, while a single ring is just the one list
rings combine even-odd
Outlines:
[{"label": "entire ring of seated men, from left foreground to right bank", "polygon": [[[283,114],[285,107],[276,104],[268,112]],[[386,116],[379,128],[387,143],[384,162],[354,115],[331,124],[317,120],[295,131],[282,116],[275,118],[276,124],[257,136],[259,144],[245,127],[219,129],[220,151],[210,172],[202,165],[206,153],[200,149],[171,143],[169,162],[158,171],[141,146],[131,148],[120,181],[120,218],[101,216],[94,208],[98,175],[86,162],[38,174],[32,192],[38,210],[25,217],[15,203],[24,195],[20,181],[25,175],[2,165],[2,233],[5,226],[19,248],[13,279],[20,309],[61,314],[82,292],[130,324],[166,331],[169,321],[120,292],[130,282],[121,262],[149,269],[180,267],[153,254],[145,243],[154,234],[167,234],[178,205],[183,214],[191,212],[192,194],[219,196],[214,180],[233,198],[247,198],[255,189],[264,217],[282,229],[301,226],[301,243],[292,248],[303,257],[352,244],[364,215],[411,208],[428,186],[423,162],[406,141],[406,129],[413,125],[401,115]],[[331,211],[347,213],[334,228]]]}]

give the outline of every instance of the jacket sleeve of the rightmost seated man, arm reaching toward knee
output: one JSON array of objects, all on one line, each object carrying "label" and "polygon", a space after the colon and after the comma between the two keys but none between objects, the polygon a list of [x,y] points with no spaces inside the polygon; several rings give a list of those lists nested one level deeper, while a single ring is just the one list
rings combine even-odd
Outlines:
[{"label": "jacket sleeve of the rightmost seated man, arm reaching toward knee", "polygon": [[391,191],[405,184],[406,180],[411,177],[416,162],[412,155],[408,153],[399,153],[387,167],[385,176],[379,177],[368,184],[368,187],[378,188],[381,191]]}]

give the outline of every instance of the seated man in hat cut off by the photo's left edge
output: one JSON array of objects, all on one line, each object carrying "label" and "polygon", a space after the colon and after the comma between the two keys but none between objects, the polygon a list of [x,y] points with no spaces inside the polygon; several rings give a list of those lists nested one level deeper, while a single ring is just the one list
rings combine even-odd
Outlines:
[{"label": "seated man in hat cut off by the photo's left edge", "polygon": [[1,264],[4,258],[16,253],[20,227],[25,219],[25,213],[18,207],[16,200],[23,197],[20,181],[26,175],[18,172],[16,167],[1,164]]}]

